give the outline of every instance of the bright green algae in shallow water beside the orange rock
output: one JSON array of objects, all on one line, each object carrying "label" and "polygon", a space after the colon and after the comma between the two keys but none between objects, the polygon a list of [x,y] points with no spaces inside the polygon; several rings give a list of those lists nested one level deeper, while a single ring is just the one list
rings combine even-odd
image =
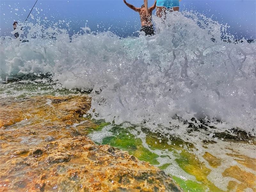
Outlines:
[{"label": "bright green algae in shallow water beside the orange rock", "polygon": [[[103,122],[98,123],[98,127],[92,130],[96,132],[101,131],[104,126],[109,125]],[[121,126],[113,125],[113,127],[109,130],[113,133],[113,136],[103,138],[102,143],[100,144],[109,144],[113,147],[120,148],[121,150],[128,151],[129,154],[153,165],[160,164],[157,160],[159,155],[154,153],[154,151],[158,150],[172,152],[175,159],[172,159],[164,154],[160,156],[162,158],[170,158],[170,163],[163,164],[159,166],[159,168],[165,170],[169,165],[172,164],[172,161],[175,161],[181,169],[188,174],[195,176],[197,180],[183,180],[181,178],[172,176],[181,188],[183,188],[185,191],[221,191],[207,179],[207,175],[211,172],[211,170],[191,153],[191,151],[194,149],[192,144],[170,135],[161,135],[159,133],[152,133],[145,129],[141,129],[138,131],[138,133],[140,131],[146,133],[145,141],[149,147],[145,148],[142,140],[131,134],[134,129],[134,127],[122,128]]]}]

